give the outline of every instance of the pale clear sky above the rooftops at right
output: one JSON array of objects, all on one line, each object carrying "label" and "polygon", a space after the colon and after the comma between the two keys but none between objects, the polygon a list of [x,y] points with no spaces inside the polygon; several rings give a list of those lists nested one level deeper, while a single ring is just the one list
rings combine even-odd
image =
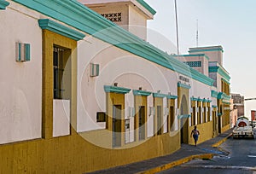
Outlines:
[{"label": "pale clear sky above the rooftops at right", "polygon": [[[148,20],[148,42],[177,54],[174,0],[145,0],[157,13]],[[177,0],[180,54],[198,46],[221,45],[223,67],[230,73],[231,93],[256,97],[256,1]],[[256,110],[256,101],[245,102],[245,115]]]}]

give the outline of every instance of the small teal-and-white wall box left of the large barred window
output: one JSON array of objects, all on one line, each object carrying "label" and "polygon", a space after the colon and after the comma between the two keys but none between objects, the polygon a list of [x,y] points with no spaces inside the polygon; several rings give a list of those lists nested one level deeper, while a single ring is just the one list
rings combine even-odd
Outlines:
[{"label": "small teal-and-white wall box left of the large barred window", "polygon": [[30,61],[30,44],[16,43],[16,61]]}]

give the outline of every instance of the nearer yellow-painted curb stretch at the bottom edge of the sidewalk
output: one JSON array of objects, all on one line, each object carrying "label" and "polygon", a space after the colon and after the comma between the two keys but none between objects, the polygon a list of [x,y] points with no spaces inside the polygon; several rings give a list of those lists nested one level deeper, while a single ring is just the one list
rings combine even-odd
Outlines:
[{"label": "nearer yellow-painted curb stretch at the bottom edge of the sidewalk", "polygon": [[212,157],[213,157],[213,154],[195,154],[195,155],[191,155],[189,157],[185,157],[183,159],[178,159],[178,160],[173,161],[172,163],[168,163],[166,165],[160,165],[153,169],[149,169],[148,171],[137,172],[137,174],[157,173],[160,171],[165,171],[167,169],[171,169],[172,167],[177,166],[177,165],[182,165],[183,163],[187,163],[192,159],[212,159]]}]

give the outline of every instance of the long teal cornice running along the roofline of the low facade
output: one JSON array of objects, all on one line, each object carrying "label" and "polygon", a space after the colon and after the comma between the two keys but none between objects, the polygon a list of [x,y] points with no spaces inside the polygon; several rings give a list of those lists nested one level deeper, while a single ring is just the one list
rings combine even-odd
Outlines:
[{"label": "long teal cornice running along the roofline of the low facade", "polygon": [[95,38],[99,38],[108,44],[141,56],[148,61],[169,68],[177,73],[191,77],[203,84],[212,86],[213,79],[199,73],[194,68],[178,61],[166,52],[148,44],[143,39],[127,32],[120,26],[115,25],[102,15],[85,7],[76,0],[13,0],[16,3],[25,5],[29,9],[34,9],[42,14],[48,15],[55,20],[60,20],[69,26],[73,26],[80,31],[87,32]]}]

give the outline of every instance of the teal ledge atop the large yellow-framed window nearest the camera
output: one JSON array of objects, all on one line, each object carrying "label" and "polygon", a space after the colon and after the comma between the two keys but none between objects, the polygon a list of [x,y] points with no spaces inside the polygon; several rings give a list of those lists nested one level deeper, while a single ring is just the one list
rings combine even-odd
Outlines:
[{"label": "teal ledge atop the large yellow-framed window nearest the camera", "polygon": [[42,29],[46,29],[51,32],[56,32],[58,34],[61,34],[62,36],[65,36],[67,38],[72,38],[73,40],[76,40],[76,41],[82,40],[85,37],[83,33],[77,32],[67,26],[63,26],[53,20],[41,19],[41,20],[38,20],[38,24]]}]

